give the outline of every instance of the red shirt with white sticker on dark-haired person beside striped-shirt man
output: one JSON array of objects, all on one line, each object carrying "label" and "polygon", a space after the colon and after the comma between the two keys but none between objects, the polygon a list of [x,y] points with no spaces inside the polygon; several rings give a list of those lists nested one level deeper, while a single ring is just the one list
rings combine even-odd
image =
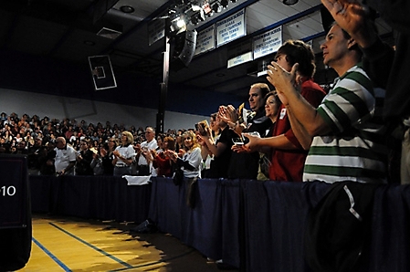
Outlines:
[{"label": "red shirt with white sticker on dark-haired person beside striped-shirt man", "polygon": [[[300,95],[308,100],[313,107],[317,108],[326,92],[313,80],[308,79],[302,83]],[[273,150],[270,160],[272,164],[269,168],[269,179],[272,181],[302,182],[303,167],[308,151],[303,150],[300,142],[293,134],[286,110],[284,105],[279,107],[278,118],[272,136],[285,134],[285,137],[299,149]]]}]

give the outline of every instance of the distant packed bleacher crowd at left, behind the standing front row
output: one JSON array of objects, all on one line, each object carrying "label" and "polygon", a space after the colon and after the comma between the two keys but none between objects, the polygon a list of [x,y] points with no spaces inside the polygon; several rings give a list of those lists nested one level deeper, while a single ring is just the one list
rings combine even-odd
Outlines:
[{"label": "distant packed bleacher crowd at left, behind the standing front row", "polygon": [[[56,174],[55,165],[50,163],[56,156],[55,148],[58,137],[63,137],[79,155],[81,142],[87,142],[89,151],[99,154],[109,151],[109,141],[115,141],[115,146],[121,144],[121,132],[129,131],[133,136],[133,145],[145,141],[144,128],[134,126],[126,128],[122,124],[97,124],[86,120],[75,119],[58,120],[43,118],[37,115],[28,116],[26,113],[19,116],[15,112],[0,116],[0,154],[23,154],[27,156],[29,173]],[[158,145],[162,145],[164,137],[177,138],[184,130],[168,130],[156,134]],[[95,158],[96,155],[93,155]],[[95,163],[95,162],[94,162]],[[79,163],[77,163],[79,164]],[[99,172],[94,171],[98,174]]]}]

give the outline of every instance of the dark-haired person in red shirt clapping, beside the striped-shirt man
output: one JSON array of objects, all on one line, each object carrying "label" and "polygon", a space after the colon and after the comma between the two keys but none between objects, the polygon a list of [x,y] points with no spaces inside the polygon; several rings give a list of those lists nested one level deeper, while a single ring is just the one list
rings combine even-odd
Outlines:
[{"label": "dark-haired person in red shirt clapping, beside the striped-shirt man", "polygon": [[[310,46],[299,40],[288,40],[278,49],[276,63],[290,71],[299,63],[297,84],[300,95],[313,107],[318,107],[326,95],[312,78],[315,71],[315,57]],[[303,149],[292,130],[287,107],[281,105],[279,116],[273,130],[273,137],[258,138],[247,136],[246,148],[268,145],[273,148],[269,168],[269,179],[272,181],[302,182],[303,167],[308,152]]]}]

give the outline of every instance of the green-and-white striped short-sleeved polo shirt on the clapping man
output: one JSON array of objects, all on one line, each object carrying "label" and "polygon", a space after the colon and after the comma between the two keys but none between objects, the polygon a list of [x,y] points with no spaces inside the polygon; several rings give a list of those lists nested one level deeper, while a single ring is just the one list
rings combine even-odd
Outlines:
[{"label": "green-and-white striped short-sleeved polo shirt on the clapping man", "polygon": [[386,182],[385,126],[378,114],[383,99],[384,90],[373,89],[360,65],[336,79],[317,109],[331,132],[313,138],[304,181]]}]

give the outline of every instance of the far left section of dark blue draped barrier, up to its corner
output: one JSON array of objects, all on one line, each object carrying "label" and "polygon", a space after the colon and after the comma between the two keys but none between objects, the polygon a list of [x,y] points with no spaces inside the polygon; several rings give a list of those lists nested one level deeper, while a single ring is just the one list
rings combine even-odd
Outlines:
[{"label": "far left section of dark blue draped barrier, up to its corner", "polygon": [[144,221],[151,184],[128,186],[113,176],[30,176],[32,211],[119,222]]}]

